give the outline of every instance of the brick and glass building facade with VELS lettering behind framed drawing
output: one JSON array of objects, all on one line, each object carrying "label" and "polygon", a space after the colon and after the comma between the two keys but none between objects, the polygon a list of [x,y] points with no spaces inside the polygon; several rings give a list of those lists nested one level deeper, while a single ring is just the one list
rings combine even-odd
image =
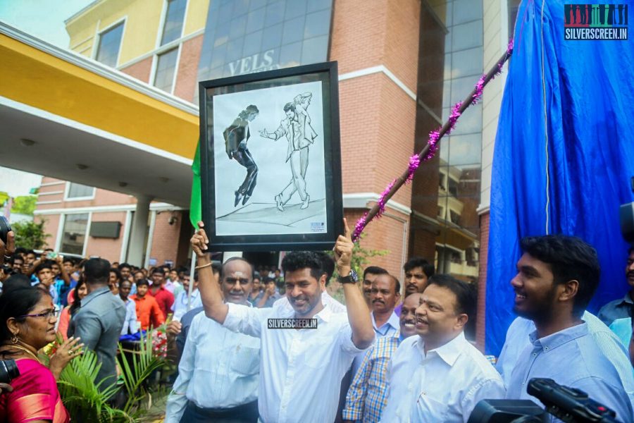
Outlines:
[{"label": "brick and glass building facade with VELS lettering behind framed drawing", "polygon": [[[194,104],[199,80],[337,61],[344,212],[354,223],[506,51],[517,3],[98,0],[66,20],[66,28],[70,49],[78,54]],[[490,167],[503,87],[504,75],[491,82],[483,102],[471,106],[442,140],[437,157],[421,165],[413,183],[388,202],[382,219],[368,225],[361,245],[389,251],[372,264],[402,276],[407,257],[419,255],[439,271],[467,281],[479,278],[483,285]],[[48,219],[50,243],[79,251],[83,242],[84,255],[125,260],[135,198],[97,188],[91,199],[76,200],[75,192],[89,188],[75,185],[44,180],[37,213]],[[80,204],[94,209],[88,216],[69,212]],[[192,231],[187,220],[181,207],[151,204],[146,264],[187,261]],[[90,235],[89,227],[104,221],[120,223],[119,238]],[[71,226],[82,230],[73,235]],[[177,246],[160,250],[163,237],[175,236]],[[277,256],[254,257],[275,261]]]}]

